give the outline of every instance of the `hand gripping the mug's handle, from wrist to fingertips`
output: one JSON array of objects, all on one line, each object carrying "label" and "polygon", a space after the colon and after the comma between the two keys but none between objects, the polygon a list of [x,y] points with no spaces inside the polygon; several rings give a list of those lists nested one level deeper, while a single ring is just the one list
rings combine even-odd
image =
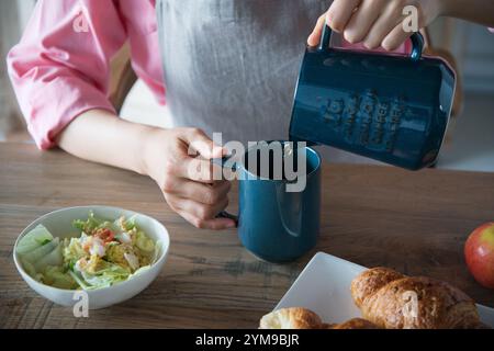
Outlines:
[{"label": "hand gripping the mug's handle, from wrist to fingertips", "polygon": [[228,205],[231,189],[228,181],[214,179],[216,166],[210,162],[224,156],[222,147],[197,128],[155,129],[146,139],[146,172],[175,212],[198,228],[235,227],[232,219],[216,218]]}]

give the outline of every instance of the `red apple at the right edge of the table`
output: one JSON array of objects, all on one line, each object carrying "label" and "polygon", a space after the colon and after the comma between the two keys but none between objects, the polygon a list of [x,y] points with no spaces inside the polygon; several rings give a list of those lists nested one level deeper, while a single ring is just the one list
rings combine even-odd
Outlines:
[{"label": "red apple at the right edge of the table", "polygon": [[494,288],[494,223],[473,230],[464,245],[464,258],[475,280]]}]

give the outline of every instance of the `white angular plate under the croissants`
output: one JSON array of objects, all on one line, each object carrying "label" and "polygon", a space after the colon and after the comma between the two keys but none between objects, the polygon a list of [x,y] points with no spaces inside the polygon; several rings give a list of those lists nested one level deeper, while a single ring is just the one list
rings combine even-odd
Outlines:
[{"label": "white angular plate under the croissants", "polygon": [[[366,268],[318,252],[274,309],[304,307],[317,313],[326,322],[344,322],[361,317],[350,295],[351,281]],[[494,309],[478,305],[484,324],[494,328]]]}]

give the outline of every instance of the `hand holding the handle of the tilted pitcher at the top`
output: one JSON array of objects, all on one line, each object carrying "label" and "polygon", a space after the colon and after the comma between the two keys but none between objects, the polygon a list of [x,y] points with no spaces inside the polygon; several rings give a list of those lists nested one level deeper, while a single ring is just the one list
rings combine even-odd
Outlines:
[{"label": "hand holding the handle of the tilted pitcher at the top", "polygon": [[418,29],[429,25],[445,11],[449,0],[335,0],[317,21],[307,39],[310,46],[319,44],[324,25],[343,33],[351,44],[363,43],[369,49],[398,48],[413,32],[405,32],[403,10],[414,5],[418,10]]}]

